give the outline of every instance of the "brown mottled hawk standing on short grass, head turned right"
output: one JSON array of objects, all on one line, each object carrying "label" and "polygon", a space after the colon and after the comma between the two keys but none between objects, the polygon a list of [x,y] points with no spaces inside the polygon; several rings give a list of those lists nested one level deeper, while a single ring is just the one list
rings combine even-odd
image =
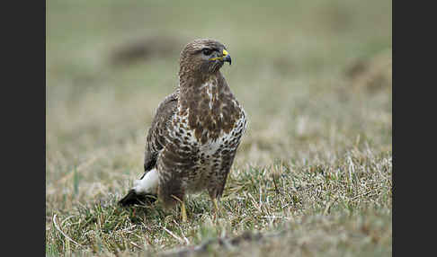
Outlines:
[{"label": "brown mottled hawk standing on short grass, head turned right", "polygon": [[230,91],[220,68],[231,64],[217,40],[187,44],[179,60],[179,85],[165,97],[148,129],[145,173],[120,199],[120,205],[145,202],[157,195],[165,208],[181,203],[185,194],[208,191],[218,211],[227,174],[246,129],[246,114]]}]

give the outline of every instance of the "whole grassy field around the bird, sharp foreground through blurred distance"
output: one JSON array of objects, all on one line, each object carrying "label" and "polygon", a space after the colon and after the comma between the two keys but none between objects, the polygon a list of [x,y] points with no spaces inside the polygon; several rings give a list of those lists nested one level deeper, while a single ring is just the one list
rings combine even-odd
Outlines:
[{"label": "whole grassy field around the bird, sharp foreground through blurred distance", "polygon": [[[47,255],[391,255],[391,1],[251,3],[47,2]],[[250,121],[221,214],[120,208],[202,37]]]}]

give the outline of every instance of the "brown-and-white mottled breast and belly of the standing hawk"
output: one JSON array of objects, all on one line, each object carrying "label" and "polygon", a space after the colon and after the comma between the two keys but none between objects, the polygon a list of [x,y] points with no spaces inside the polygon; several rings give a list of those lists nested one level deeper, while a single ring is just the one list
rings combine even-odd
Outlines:
[{"label": "brown-and-white mottled breast and belly of the standing hawk", "polygon": [[182,176],[188,191],[223,180],[245,133],[245,111],[225,86],[202,85],[201,100],[186,107],[178,104],[174,113],[170,137],[176,138],[180,155],[193,164]]}]

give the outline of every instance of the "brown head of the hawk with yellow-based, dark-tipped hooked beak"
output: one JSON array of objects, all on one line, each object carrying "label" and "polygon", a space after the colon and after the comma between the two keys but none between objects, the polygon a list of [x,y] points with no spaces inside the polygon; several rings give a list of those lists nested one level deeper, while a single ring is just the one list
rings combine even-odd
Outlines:
[{"label": "brown head of the hawk with yellow-based, dark-tipped hooked beak", "polygon": [[225,62],[230,65],[231,58],[222,43],[209,39],[193,40],[181,52],[180,72],[207,75],[217,72]]}]

